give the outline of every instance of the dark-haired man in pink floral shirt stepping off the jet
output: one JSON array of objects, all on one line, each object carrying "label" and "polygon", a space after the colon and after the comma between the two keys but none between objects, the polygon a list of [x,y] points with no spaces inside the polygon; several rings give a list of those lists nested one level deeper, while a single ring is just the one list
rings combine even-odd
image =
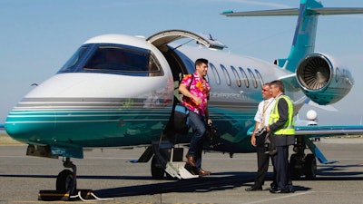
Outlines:
[{"label": "dark-haired man in pink floral shirt stepping off the jet", "polygon": [[211,123],[208,112],[211,87],[205,79],[207,71],[208,60],[196,60],[195,73],[185,75],[179,86],[179,92],[182,92],[182,104],[190,110],[189,120],[193,131],[189,151],[186,155],[187,163],[196,167],[200,176],[211,174],[210,171],[201,169],[201,151],[206,131],[206,122],[208,124]]}]

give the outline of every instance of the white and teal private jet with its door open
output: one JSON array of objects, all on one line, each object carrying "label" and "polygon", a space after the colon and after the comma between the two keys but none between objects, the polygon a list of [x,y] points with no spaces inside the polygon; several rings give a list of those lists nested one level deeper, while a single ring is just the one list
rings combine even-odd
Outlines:
[{"label": "white and teal private jet with its door open", "polygon": [[[175,92],[181,76],[193,73],[193,62],[209,60],[209,111],[219,138],[206,141],[206,151],[243,153],[250,145],[254,115],[263,83],[281,80],[294,101],[295,112],[307,102],[329,105],[344,98],[354,85],[343,64],[325,53],[315,53],[319,15],[363,14],[363,8],[325,8],[315,0],[301,0],[299,8],[252,12],[224,12],[226,16],[298,15],[287,58],[268,63],[250,56],[223,52],[226,46],[211,36],[167,30],[149,38],[123,34],[95,36],[82,44],[64,66],[29,92],[5,121],[5,131],[28,144],[27,155],[63,157],[58,191],[76,188],[71,158],[83,158],[85,149],[149,147],[138,160],[152,158],[152,177],[193,178],[160,148],[187,144],[191,132],[172,134]],[[197,46],[180,44],[193,40]],[[297,126],[295,153],[290,163],[294,176],[316,176],[316,158],[329,163],[311,137],[361,134],[362,126]],[[165,136],[162,137],[161,136]],[[155,145],[156,144],[156,145]],[[306,149],[312,153],[305,154]]]}]

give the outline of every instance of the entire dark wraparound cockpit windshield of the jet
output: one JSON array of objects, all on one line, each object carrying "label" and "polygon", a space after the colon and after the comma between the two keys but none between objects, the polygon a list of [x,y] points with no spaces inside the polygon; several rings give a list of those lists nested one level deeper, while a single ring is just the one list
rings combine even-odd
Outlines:
[{"label": "entire dark wraparound cockpit windshield of the jet", "polygon": [[[82,57],[83,59],[81,59]],[[64,64],[60,73],[70,71],[138,76],[160,76],[163,74],[161,65],[152,52],[118,44],[84,45]]]}]

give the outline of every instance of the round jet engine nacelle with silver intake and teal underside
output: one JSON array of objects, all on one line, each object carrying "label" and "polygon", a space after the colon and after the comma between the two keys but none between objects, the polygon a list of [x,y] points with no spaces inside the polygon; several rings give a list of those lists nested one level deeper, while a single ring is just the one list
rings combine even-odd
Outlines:
[{"label": "round jet engine nacelle with silver intake and teal underside", "polygon": [[323,53],[306,55],[296,69],[296,76],[302,91],[320,105],[338,102],[354,83],[347,69]]}]

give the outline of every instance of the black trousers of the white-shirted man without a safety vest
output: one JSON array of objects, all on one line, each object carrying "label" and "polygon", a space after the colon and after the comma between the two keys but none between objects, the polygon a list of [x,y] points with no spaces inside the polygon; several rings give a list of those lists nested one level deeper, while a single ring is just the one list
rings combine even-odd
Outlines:
[{"label": "black trousers of the white-shirted man without a safety vest", "polygon": [[257,175],[254,180],[254,188],[260,188],[263,186],[267,171],[269,170],[269,161],[270,161],[270,155],[266,154],[266,149],[264,148],[264,141],[265,141],[266,134],[262,134],[258,137],[256,137],[257,147]]}]

